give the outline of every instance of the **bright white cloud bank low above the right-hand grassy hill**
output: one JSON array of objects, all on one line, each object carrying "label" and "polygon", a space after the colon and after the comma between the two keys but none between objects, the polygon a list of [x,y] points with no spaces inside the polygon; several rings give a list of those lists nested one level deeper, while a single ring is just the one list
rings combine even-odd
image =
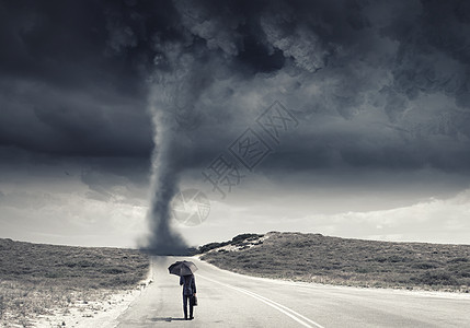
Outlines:
[{"label": "bright white cloud bank low above the right-hand grassy hill", "polygon": [[[316,231],[368,239],[468,244],[470,191],[450,199],[428,199],[409,207],[370,212],[310,215]],[[301,223],[299,223],[301,224]]]}]

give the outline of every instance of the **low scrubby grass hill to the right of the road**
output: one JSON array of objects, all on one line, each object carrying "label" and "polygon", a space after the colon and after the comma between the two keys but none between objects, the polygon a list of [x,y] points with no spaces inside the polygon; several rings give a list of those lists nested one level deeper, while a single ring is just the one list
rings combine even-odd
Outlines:
[{"label": "low scrubby grass hill to the right of the road", "polygon": [[257,277],[353,286],[470,291],[470,245],[374,242],[300,233],[268,233],[261,237],[242,235],[199,249],[205,253],[204,260],[219,268]]}]

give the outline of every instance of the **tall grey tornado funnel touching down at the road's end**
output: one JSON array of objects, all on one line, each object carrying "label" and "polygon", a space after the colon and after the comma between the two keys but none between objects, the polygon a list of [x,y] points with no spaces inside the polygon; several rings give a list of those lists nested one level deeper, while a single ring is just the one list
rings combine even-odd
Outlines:
[{"label": "tall grey tornado funnel touching down at the road's end", "polygon": [[[186,49],[187,51],[187,49]],[[210,81],[193,54],[179,45],[165,45],[150,84],[149,113],[154,131],[151,199],[147,213],[150,234],[144,247],[153,255],[188,255],[192,249],[172,227],[171,201],[179,192],[181,174],[187,163],[187,140],[182,133],[181,114],[199,119],[196,103]],[[180,118],[180,119],[179,119]],[[190,126],[194,126],[190,122]]]}]

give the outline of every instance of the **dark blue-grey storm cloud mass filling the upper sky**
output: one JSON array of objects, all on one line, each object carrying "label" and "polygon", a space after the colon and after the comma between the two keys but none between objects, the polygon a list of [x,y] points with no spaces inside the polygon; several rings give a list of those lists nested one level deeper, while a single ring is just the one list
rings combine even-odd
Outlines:
[{"label": "dark blue-grey storm cloud mass filling the upper sky", "polygon": [[256,168],[274,181],[468,176],[468,35],[457,0],[3,1],[0,155],[152,162],[167,207],[278,101],[299,126]]}]

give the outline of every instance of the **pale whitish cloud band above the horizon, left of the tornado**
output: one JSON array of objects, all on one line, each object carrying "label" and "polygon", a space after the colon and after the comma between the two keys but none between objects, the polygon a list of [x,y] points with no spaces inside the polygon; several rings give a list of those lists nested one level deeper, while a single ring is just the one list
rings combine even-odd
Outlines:
[{"label": "pale whitish cloud band above the horizon, left of the tornado", "polygon": [[[106,202],[77,194],[55,195],[58,201],[30,192],[8,194],[14,202],[0,203],[1,237],[89,246],[134,247],[145,233],[147,207]],[[42,202],[37,206],[30,200]],[[44,200],[44,201],[43,201]]]}]

